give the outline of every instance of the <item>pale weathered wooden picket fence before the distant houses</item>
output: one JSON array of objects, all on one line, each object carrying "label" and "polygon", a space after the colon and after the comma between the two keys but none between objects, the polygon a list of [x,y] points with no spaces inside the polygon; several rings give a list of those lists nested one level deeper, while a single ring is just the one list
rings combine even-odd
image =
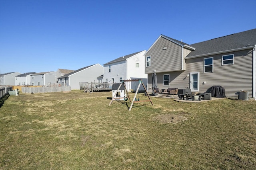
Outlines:
[{"label": "pale weathered wooden picket fence before the distant houses", "polygon": [[60,87],[22,87],[22,93],[53,93],[53,92],[70,92],[71,86]]}]

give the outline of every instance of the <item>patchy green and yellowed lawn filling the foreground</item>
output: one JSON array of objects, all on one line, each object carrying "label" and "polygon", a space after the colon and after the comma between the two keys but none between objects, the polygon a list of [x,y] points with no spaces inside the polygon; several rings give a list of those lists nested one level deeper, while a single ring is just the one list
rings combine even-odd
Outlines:
[{"label": "patchy green and yellowed lawn filling the foreground", "polygon": [[10,96],[0,107],[0,170],[256,169],[256,101],[152,98],[128,111],[130,102],[108,106],[111,97]]}]

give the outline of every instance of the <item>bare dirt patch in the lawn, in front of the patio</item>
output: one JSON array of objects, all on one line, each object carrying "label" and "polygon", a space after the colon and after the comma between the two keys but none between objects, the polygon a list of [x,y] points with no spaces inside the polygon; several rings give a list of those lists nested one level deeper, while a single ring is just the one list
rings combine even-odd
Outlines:
[{"label": "bare dirt patch in the lawn, in front of the patio", "polygon": [[186,117],[183,117],[181,115],[174,115],[174,114],[158,115],[153,119],[156,121],[160,121],[161,123],[173,123],[173,124],[187,120]]}]

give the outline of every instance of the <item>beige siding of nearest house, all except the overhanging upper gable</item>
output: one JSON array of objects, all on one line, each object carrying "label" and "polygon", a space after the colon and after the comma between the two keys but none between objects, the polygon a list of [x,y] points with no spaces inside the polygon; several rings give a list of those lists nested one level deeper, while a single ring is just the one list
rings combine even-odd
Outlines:
[{"label": "beige siding of nearest house, all except the overhanging upper gable", "polygon": [[[222,55],[229,54],[234,54],[234,64],[222,65]],[[208,57],[213,57],[213,72],[204,73],[204,58]],[[206,92],[211,86],[222,86],[226,90],[227,97],[238,97],[235,93],[246,90],[249,92],[249,98],[252,98],[252,50],[186,59],[185,71],[157,73],[158,88],[189,87],[190,78],[187,75],[190,72],[200,73],[199,92]],[[164,74],[170,74],[169,86],[163,86]],[[148,88],[150,87],[152,87],[152,74],[148,74]]]}]

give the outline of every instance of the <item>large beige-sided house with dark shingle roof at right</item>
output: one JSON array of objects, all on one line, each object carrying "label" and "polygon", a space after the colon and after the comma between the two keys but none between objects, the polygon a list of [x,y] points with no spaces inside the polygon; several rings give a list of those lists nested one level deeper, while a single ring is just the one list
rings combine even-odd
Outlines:
[{"label": "large beige-sided house with dark shingle roof at right", "polygon": [[158,88],[189,87],[206,92],[222,86],[226,96],[248,91],[256,99],[256,29],[188,45],[160,35],[145,53],[149,88],[156,71]]}]

